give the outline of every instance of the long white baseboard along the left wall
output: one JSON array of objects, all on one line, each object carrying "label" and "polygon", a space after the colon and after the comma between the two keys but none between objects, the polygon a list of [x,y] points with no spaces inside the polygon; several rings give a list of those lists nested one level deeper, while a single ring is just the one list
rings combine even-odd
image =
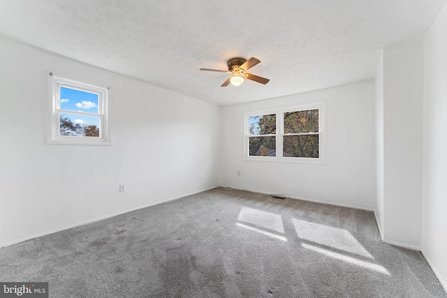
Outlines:
[{"label": "long white baseboard along the left wall", "polygon": [[178,200],[179,198],[184,198],[184,197],[187,197],[188,195],[195,195],[196,193],[202,193],[203,191],[209,191],[210,189],[216,188],[216,187],[217,186],[212,186],[210,188],[205,188],[205,189],[203,189],[201,191],[196,191],[196,192],[193,192],[193,193],[186,193],[185,195],[178,195],[177,197],[174,197],[174,198],[169,198],[169,199],[166,199],[166,200],[163,200],[163,201],[154,202],[154,203],[151,203],[151,204],[146,204],[146,205],[143,205],[143,206],[140,206],[140,207],[136,207],[136,208],[132,208],[132,209],[125,210],[125,211],[119,211],[119,212],[117,212],[115,214],[109,214],[109,215],[106,215],[106,216],[101,216],[101,217],[98,217],[98,218],[91,219],[89,221],[82,221],[81,223],[75,223],[74,225],[66,225],[65,227],[62,227],[62,228],[57,228],[57,229],[54,229],[54,230],[50,230],[50,231],[34,234],[34,235],[31,235],[31,236],[28,236],[28,237],[15,239],[15,240],[8,241],[8,242],[0,244],[0,248],[1,247],[6,247],[6,246],[11,246],[11,245],[23,242],[23,241],[35,239],[35,238],[46,236],[46,235],[49,235],[49,234],[54,234],[54,233],[61,232],[61,231],[64,231],[64,230],[77,228],[77,227],[80,227],[82,225],[88,225],[89,223],[95,223],[96,221],[103,221],[104,219],[111,218],[111,217],[114,217],[114,216],[119,216],[119,215],[122,215],[122,214],[126,214],[126,213],[129,213],[131,211],[136,211],[136,210],[139,210],[139,209],[155,206],[155,205],[158,205],[158,204],[163,204],[163,203],[166,203],[166,202]]}]

